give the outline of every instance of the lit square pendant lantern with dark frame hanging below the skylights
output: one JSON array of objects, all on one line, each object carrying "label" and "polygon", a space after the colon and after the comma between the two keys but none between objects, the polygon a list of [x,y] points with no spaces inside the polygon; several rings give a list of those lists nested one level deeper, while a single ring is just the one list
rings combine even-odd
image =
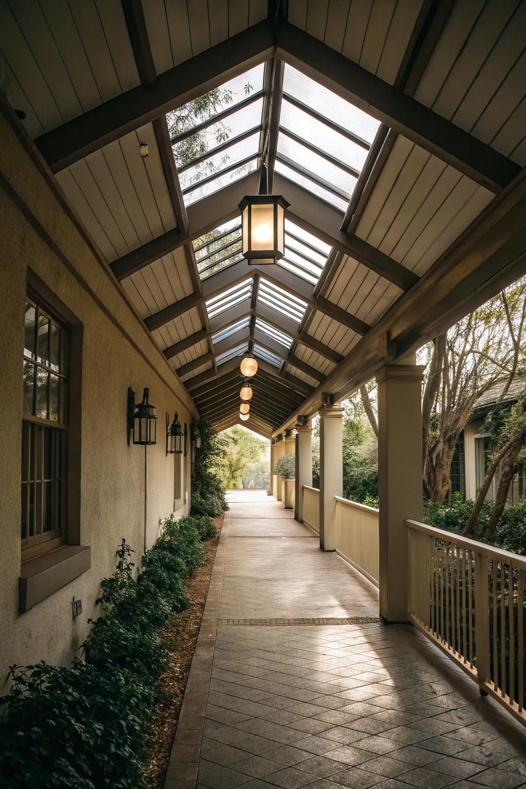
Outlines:
[{"label": "lit square pendant lantern with dark frame hanging below the skylights", "polygon": [[248,195],[241,200],[241,252],[249,264],[270,265],[284,256],[289,205],[281,195]]}]

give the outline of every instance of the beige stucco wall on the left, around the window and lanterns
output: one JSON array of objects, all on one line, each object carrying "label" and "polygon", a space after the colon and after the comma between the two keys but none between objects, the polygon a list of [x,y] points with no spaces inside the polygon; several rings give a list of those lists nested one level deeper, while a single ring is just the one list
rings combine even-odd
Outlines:
[{"label": "beige stucco wall on the left, around the window and lanterns", "polygon": [[[5,110],[4,110],[5,111]],[[27,149],[26,149],[27,148]],[[28,152],[29,151],[29,152]],[[165,412],[181,423],[192,400],[91,248],[54,181],[16,122],[0,114],[0,282],[2,441],[0,442],[0,692],[9,664],[69,662],[95,615],[99,581],[114,570],[126,537],[140,561],[144,542],[144,448],[126,443],[126,391],[150,387],[158,443],[147,448],[147,544],[173,510],[173,457],[165,454]],[[24,297],[28,267],[84,325],[82,359],[80,543],[91,569],[18,615],[21,567],[21,421]],[[7,415],[7,418],[6,418]],[[183,514],[186,505],[179,510]],[[73,596],[84,612],[73,620]]]}]

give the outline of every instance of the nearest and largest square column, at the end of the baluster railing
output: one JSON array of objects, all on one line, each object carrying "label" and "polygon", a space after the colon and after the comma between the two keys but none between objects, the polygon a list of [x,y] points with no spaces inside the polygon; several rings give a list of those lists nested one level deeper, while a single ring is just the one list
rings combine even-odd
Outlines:
[{"label": "nearest and largest square column, at the end of the baluster railing", "polygon": [[408,529],[423,518],[420,365],[386,365],[378,383],[380,615],[407,621]]}]

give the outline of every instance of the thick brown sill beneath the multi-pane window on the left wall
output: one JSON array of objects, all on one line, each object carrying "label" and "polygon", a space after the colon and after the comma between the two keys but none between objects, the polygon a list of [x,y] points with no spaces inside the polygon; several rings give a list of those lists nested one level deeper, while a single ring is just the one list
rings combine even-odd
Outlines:
[{"label": "thick brown sill beneath the multi-pane window on the left wall", "polygon": [[56,551],[24,562],[18,581],[19,613],[29,611],[90,567],[91,548],[86,545],[63,545]]}]

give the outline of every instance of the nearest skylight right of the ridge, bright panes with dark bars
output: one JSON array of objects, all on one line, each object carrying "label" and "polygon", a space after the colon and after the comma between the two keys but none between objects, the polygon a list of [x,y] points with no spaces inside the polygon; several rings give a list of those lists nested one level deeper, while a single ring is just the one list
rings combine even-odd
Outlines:
[{"label": "nearest skylight right of the ridge, bright panes with dark bars", "polygon": [[285,65],[275,169],[345,211],[379,122]]}]

